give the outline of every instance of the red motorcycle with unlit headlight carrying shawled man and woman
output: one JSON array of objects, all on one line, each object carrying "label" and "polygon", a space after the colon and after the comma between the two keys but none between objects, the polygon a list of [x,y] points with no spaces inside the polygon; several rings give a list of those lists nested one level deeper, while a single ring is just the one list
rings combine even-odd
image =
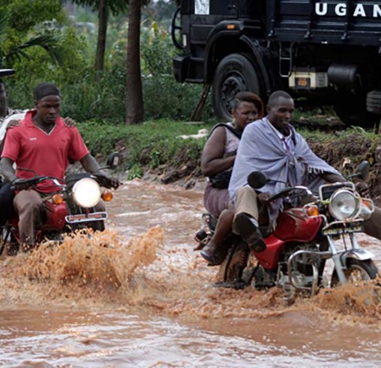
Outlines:
[{"label": "red motorcycle with unlit headlight carrying shawled man and woman", "polygon": [[[369,163],[364,161],[348,179],[366,179],[368,174]],[[268,181],[260,172],[248,176],[253,189],[263,187]],[[303,204],[305,198],[313,200]],[[371,199],[358,194],[354,183],[321,185],[319,198],[313,197],[308,187],[286,187],[268,198],[267,203],[275,201],[281,201],[284,207],[273,231],[261,227],[266,250],[250,251],[238,235],[229,235],[224,244],[227,256],[220,265],[217,286],[243,288],[251,284],[257,289],[278,286],[289,296],[296,292],[312,296],[321,286],[329,284],[323,275],[329,259],[334,264],[331,286],[376,278],[374,255],[360,248],[356,240],[356,233],[363,231],[363,222],[373,213],[374,205]],[[198,249],[213,235],[217,219],[203,214],[202,223],[203,227],[196,234]],[[344,249],[339,250],[336,243],[339,239],[343,240]],[[247,265],[250,253],[257,261],[255,266]]]}]

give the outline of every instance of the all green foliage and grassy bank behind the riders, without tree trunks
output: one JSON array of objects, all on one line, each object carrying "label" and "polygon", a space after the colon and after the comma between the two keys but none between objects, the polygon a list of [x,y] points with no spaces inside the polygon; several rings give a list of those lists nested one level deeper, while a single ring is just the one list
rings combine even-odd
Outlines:
[{"label": "all green foliage and grassy bank behind the riders, without tree trunks", "polygon": [[[128,170],[129,179],[142,176],[146,170],[165,174],[174,169],[181,172],[181,177],[199,175],[205,139],[183,140],[178,136],[196,134],[200,128],[210,129],[216,121],[208,99],[202,117],[207,124],[183,123],[189,121],[202,86],[181,85],[172,76],[172,57],[176,51],[168,24],[174,2],[151,2],[143,10],[141,68],[147,122],[138,126],[123,124],[128,97],[126,18],[119,15],[108,19],[104,71],[96,73],[93,65],[97,14],[89,12],[89,8],[76,8],[69,16],[60,0],[33,3],[30,7],[30,0],[0,0],[1,14],[9,14],[0,22],[0,59],[3,67],[16,69],[15,76],[4,78],[9,106],[30,108],[33,88],[40,82],[55,82],[62,92],[62,115],[76,119],[93,154],[104,157],[115,149],[122,152],[123,168]],[[57,40],[54,47],[62,56],[59,63],[43,47],[25,50],[29,58],[7,58],[14,47],[39,36]],[[313,120],[313,124],[326,123],[327,112],[330,111],[300,109],[295,118],[300,122],[304,119]],[[319,156],[340,170],[345,159],[351,166],[345,170],[352,170],[362,159],[369,159],[373,165],[378,165],[378,159],[381,162],[378,132],[353,128],[336,134],[311,128],[301,133]],[[371,180],[376,181],[378,169],[374,172],[377,175],[373,174]],[[173,180],[178,177],[174,175]]]}]

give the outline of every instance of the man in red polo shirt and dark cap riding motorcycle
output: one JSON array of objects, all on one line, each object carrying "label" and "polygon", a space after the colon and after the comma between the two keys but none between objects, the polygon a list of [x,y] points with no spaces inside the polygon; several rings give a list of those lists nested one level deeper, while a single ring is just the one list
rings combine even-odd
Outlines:
[{"label": "man in red polo shirt and dark cap riding motorcycle", "polygon": [[[11,128],[5,138],[0,168],[8,181],[29,179],[34,170],[41,176],[63,179],[69,157],[80,161],[86,172],[99,172],[100,166],[89,154],[76,128],[68,128],[60,117],[61,98],[58,88],[51,83],[39,84],[34,90],[35,109],[25,114],[20,126]],[[117,185],[117,179],[111,179]],[[38,186],[39,192],[54,192],[54,183]],[[34,190],[22,190],[14,198],[14,208],[19,214],[19,231],[25,249],[35,242],[35,229],[43,220],[44,207],[41,195]]]}]

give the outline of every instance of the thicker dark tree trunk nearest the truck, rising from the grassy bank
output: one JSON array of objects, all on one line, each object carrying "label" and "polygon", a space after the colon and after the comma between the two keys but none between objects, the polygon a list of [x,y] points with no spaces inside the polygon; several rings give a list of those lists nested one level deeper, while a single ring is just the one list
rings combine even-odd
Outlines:
[{"label": "thicker dark tree trunk nearest the truck, rising from the grassy bank", "polygon": [[140,71],[141,0],[128,3],[127,111],[126,124],[143,122],[143,91]]}]

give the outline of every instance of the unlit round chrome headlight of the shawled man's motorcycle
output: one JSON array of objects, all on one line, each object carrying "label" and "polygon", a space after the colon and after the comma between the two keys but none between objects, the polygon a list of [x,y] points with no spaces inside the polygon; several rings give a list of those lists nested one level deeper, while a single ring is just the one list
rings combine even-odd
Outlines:
[{"label": "unlit round chrome headlight of the shawled man's motorcycle", "polygon": [[347,220],[358,213],[360,198],[347,189],[338,189],[330,199],[330,214],[336,220]]}]

